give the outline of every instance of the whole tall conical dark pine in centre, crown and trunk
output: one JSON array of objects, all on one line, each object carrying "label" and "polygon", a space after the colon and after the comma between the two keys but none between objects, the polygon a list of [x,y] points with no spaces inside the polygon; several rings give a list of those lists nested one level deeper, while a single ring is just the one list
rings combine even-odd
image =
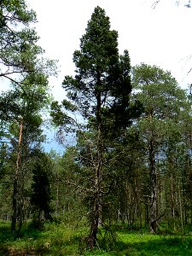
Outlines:
[{"label": "whole tall conical dark pine in centre, crown and trunk", "polygon": [[[67,76],[63,81],[69,100],[63,101],[62,106],[58,102],[52,104],[55,124],[63,125],[66,129],[68,125],[77,127],[79,138],[86,148],[87,161],[83,163],[90,176],[87,191],[90,191],[88,240],[91,248],[96,245],[98,224],[102,215],[105,195],[103,182],[108,175],[104,168],[104,159],[110,150],[108,138],[118,137],[131,118],[130,58],[126,50],[124,55],[119,55],[117,38],[118,33],[110,30],[105,11],[96,7],[88,21],[86,33],[80,39],[80,49],[73,54],[76,75],[74,78]],[[77,124],[77,119],[73,119],[67,110],[82,115],[85,120],[84,129],[90,129],[91,136],[87,136],[89,133],[85,130],[82,131],[82,126]],[[83,159],[85,155],[81,158]]]}]

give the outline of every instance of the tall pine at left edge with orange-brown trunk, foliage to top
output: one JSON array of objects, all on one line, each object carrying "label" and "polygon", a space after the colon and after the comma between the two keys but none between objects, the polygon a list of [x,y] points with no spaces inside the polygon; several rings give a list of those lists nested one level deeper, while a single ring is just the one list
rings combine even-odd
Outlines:
[{"label": "tall pine at left edge with orange-brown trunk, foliage to top", "polygon": [[20,209],[30,149],[40,147],[43,141],[39,111],[49,103],[48,76],[55,73],[55,61],[41,56],[44,50],[38,46],[38,35],[32,28],[36,15],[27,9],[25,0],[3,0],[0,7],[0,77],[12,85],[11,90],[0,95],[1,139],[10,143],[9,151],[16,163],[12,219],[15,232],[17,219],[21,224],[23,218]]}]

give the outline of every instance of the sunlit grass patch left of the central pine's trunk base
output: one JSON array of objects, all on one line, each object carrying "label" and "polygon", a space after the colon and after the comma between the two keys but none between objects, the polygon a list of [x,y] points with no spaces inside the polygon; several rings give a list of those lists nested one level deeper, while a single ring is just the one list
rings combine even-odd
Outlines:
[{"label": "sunlit grass patch left of the central pine's trunk base", "polygon": [[44,224],[44,230],[32,229],[29,224],[21,230],[20,237],[14,239],[9,225],[4,227],[2,224],[1,228],[0,236],[5,228],[7,235],[0,245],[0,255],[2,252],[13,255],[79,255],[79,237],[85,232],[83,227],[75,230],[66,224]]}]

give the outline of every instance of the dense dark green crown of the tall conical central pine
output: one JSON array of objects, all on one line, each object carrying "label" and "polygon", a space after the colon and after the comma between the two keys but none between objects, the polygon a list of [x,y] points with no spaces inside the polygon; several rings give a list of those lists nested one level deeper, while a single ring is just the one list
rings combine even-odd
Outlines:
[{"label": "dense dark green crown of the tall conical central pine", "polygon": [[[96,7],[81,38],[80,50],[73,54],[76,75],[74,78],[66,76],[62,83],[69,99],[62,102],[63,107],[73,112],[78,110],[95,128],[98,108],[102,108],[102,126],[106,133],[114,131],[114,127],[126,127],[131,115],[130,58],[126,50],[124,55],[119,55],[117,38],[118,33],[110,30],[105,11]],[[53,103],[55,123],[72,122],[60,109],[61,106]]]}]

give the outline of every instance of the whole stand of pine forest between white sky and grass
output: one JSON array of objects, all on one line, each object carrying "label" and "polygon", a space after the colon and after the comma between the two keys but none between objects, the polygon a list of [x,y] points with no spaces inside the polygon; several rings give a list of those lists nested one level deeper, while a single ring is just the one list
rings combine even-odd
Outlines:
[{"label": "whole stand of pine forest between white sky and grass", "polygon": [[[48,82],[57,65],[38,46],[35,12],[24,0],[0,6],[0,76],[9,84],[0,92],[0,219],[11,237],[49,222],[83,225],[79,244],[90,249],[102,241],[111,248],[115,226],[189,234],[191,86],[183,90],[160,67],[131,67],[96,7],[57,102]],[[67,137],[63,155],[44,149],[53,126],[61,144]]]}]

